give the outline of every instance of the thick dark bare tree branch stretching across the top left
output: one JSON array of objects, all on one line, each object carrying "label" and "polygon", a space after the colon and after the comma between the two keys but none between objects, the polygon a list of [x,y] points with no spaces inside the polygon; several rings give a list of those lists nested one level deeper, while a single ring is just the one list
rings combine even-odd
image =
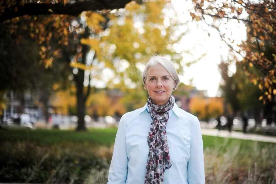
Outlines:
[{"label": "thick dark bare tree branch stretching across the top left", "polygon": [[83,11],[97,11],[103,9],[124,8],[131,0],[85,0],[75,3],[42,4],[42,3],[25,3],[24,5],[16,4],[4,8],[0,13],[0,22],[9,20],[23,15],[50,15],[64,14],[78,16]]}]

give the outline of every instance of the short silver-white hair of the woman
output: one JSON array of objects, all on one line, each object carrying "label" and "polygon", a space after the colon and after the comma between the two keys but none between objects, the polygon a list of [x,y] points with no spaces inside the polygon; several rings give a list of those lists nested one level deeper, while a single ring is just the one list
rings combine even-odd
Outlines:
[{"label": "short silver-white hair of the woman", "polygon": [[173,66],[173,63],[170,60],[168,60],[167,58],[158,56],[158,55],[151,57],[146,64],[146,68],[145,68],[145,70],[143,72],[143,76],[142,76],[144,86],[145,86],[145,79],[147,78],[147,75],[148,75],[148,73],[147,73],[148,69],[150,67],[156,66],[158,64],[162,65],[168,71],[168,73],[171,75],[171,77],[174,80],[175,89],[177,89],[177,87],[180,83],[180,80],[179,80],[178,73]]}]

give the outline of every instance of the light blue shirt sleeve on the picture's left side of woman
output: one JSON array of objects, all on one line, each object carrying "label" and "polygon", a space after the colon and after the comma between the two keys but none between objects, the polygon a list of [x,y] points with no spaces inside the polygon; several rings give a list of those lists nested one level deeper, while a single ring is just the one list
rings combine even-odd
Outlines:
[{"label": "light blue shirt sleeve on the picture's left side of woman", "polygon": [[107,184],[125,184],[128,158],[125,144],[125,115],[122,116],[115,138]]}]

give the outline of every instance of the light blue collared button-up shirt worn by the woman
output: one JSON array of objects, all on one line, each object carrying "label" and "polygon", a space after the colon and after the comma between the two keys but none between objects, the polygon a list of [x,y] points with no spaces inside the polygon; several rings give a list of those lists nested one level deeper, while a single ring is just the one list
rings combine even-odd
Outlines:
[{"label": "light blue collared button-up shirt worn by the woman", "polygon": [[[172,167],[165,170],[164,184],[205,182],[203,142],[199,120],[174,103],[167,123]],[[147,104],[124,114],[119,122],[107,184],[143,184],[152,119]]]}]

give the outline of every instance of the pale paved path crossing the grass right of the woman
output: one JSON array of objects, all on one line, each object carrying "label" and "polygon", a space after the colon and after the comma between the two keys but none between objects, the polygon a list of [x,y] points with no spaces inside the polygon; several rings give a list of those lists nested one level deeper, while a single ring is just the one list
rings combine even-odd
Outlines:
[{"label": "pale paved path crossing the grass right of the woman", "polygon": [[218,137],[228,137],[228,138],[237,138],[237,139],[246,139],[246,140],[253,140],[253,141],[276,143],[276,137],[250,134],[250,133],[245,134],[245,133],[242,133],[242,132],[235,132],[235,131],[232,131],[231,133],[229,133],[227,130],[220,130],[219,131],[217,129],[209,129],[209,128],[202,128],[201,133],[203,135],[211,135],[211,136],[218,136]]}]

